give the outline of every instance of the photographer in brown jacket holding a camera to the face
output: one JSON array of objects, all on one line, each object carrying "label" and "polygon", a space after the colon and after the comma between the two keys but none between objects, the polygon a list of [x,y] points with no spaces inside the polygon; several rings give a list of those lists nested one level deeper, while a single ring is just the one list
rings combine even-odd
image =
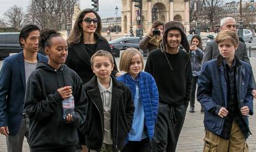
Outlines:
[{"label": "photographer in brown jacket holding a camera to the face", "polygon": [[140,40],[140,49],[148,49],[148,53],[154,49],[158,49],[158,46],[160,46],[163,38],[163,28],[164,22],[161,20],[154,21],[150,32],[148,32],[147,35]]}]

